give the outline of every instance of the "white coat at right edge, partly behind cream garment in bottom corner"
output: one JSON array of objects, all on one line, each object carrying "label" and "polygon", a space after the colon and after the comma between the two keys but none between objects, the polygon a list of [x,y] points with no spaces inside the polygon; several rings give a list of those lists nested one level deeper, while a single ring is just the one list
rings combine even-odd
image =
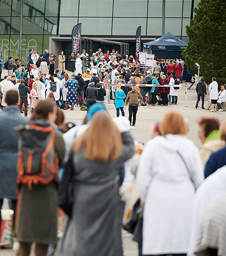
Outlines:
[{"label": "white coat at right edge, partly behind cream garment in bottom corner", "polygon": [[188,256],[194,255],[197,233],[207,204],[214,198],[226,192],[226,166],[216,170],[208,176],[195,193],[194,205],[192,207],[192,225],[190,227],[190,241]]}]

